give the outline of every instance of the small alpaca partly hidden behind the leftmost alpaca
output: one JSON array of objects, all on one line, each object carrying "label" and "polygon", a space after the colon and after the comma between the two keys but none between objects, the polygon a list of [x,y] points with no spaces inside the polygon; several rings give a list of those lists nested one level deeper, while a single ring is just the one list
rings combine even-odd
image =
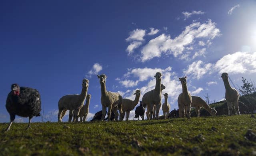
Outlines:
[{"label": "small alpaca partly hidden behind the leftmost alpaca", "polygon": [[85,105],[83,105],[82,108],[80,108],[80,111],[79,111],[79,114],[77,113],[77,110],[74,110],[74,115],[75,114],[78,114],[77,115],[77,118],[73,118],[73,122],[74,121],[78,121],[78,118],[80,117],[80,121],[86,121],[86,117],[89,113],[89,105],[90,105],[90,99],[91,99],[91,95],[90,94],[87,94],[86,95],[86,102],[85,102]]}]

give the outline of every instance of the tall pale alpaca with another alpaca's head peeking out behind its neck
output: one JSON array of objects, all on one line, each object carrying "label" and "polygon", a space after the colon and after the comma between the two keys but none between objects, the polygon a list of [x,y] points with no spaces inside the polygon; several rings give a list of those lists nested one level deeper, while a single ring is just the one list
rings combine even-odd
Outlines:
[{"label": "tall pale alpaca with another alpaca's head peeking out behind its neck", "polygon": [[156,75],[156,86],[155,89],[148,91],[142,97],[142,105],[147,106],[147,118],[148,120],[152,120],[153,115],[153,107],[156,105],[156,118],[158,119],[158,114],[160,110],[160,103],[161,103],[161,79],[162,73],[157,72]]}]

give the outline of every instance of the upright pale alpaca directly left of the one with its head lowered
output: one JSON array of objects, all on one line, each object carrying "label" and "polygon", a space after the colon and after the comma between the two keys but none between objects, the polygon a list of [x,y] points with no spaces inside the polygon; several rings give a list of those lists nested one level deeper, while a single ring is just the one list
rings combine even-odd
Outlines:
[{"label": "upright pale alpaca directly left of the one with its head lowered", "polygon": [[[187,77],[182,77],[180,78],[181,85],[182,85],[182,93],[178,97],[178,105],[179,105],[179,116],[180,118],[185,117],[187,114],[187,117],[190,118],[190,109],[191,109],[191,101],[192,97],[190,93],[188,93],[188,88],[187,88]],[[186,113],[185,113],[186,112]]]}]

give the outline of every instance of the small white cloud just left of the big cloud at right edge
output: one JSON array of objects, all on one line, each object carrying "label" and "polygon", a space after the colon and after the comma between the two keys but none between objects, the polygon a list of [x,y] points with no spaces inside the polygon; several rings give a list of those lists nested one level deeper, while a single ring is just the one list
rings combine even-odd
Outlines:
[{"label": "small white cloud just left of the big cloud at right edge", "polygon": [[204,64],[203,61],[194,61],[192,64],[188,65],[188,69],[184,70],[185,75],[191,75],[193,79],[200,79],[204,74],[206,74],[212,68],[212,64]]}]

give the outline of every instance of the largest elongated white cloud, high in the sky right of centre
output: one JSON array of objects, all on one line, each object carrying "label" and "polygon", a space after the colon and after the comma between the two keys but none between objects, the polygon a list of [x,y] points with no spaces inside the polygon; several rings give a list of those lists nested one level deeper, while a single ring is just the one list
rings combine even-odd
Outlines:
[{"label": "largest elongated white cloud, high in the sky right of centre", "polygon": [[216,23],[211,20],[203,24],[196,22],[186,26],[185,30],[174,39],[165,34],[151,39],[142,48],[140,61],[145,62],[154,57],[160,57],[162,53],[172,54],[174,57],[178,57],[187,46],[191,47],[195,39],[214,39],[220,35],[220,30],[216,28]]}]

